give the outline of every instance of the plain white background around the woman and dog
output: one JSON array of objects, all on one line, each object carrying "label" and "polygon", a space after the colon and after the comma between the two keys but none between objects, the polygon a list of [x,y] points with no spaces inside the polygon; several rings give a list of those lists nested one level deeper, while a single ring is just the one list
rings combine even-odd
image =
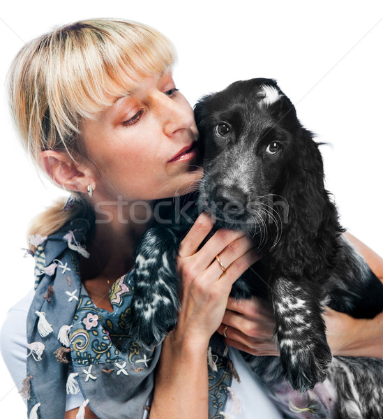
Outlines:
[{"label": "plain white background around the woman and dog", "polygon": [[[383,255],[381,1],[7,1],[0,12],[0,323],[33,285],[33,260],[20,251],[27,223],[62,195],[43,186],[18,145],[3,80],[24,42],[89,17],[124,17],[163,31],[179,52],[177,87],[192,105],[234,80],[276,78],[301,122],[332,144],[322,147],[326,184],[343,225]],[[24,418],[2,360],[0,377],[0,416]]]}]

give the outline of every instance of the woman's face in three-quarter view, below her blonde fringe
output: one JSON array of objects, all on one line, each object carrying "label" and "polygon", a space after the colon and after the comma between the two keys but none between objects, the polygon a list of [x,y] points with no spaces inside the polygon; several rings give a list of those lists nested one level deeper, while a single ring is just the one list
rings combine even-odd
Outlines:
[{"label": "woman's face in three-quarter view, below her blonde fringe", "polygon": [[202,177],[193,110],[170,70],[145,78],[82,134],[104,200],[153,200],[192,191]]}]

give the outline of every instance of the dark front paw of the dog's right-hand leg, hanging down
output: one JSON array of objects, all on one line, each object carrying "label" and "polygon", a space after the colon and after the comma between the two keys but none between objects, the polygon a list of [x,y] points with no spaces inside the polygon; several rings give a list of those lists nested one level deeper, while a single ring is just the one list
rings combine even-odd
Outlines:
[{"label": "dark front paw of the dog's right-hand leg, hanging down", "polygon": [[290,339],[280,342],[280,360],[294,390],[305,392],[313,390],[316,383],[322,383],[331,359],[326,341],[313,339],[306,341],[305,346],[296,346]]}]

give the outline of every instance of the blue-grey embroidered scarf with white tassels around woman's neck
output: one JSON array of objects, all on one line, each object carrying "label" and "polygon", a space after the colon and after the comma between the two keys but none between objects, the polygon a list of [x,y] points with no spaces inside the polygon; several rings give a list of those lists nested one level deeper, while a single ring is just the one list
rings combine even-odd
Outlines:
[{"label": "blue-grey embroidered scarf with white tassels around woman's neck", "polygon": [[[161,346],[147,348],[127,333],[134,293],[132,272],[110,290],[113,311],[96,307],[80,281],[80,255],[91,223],[73,219],[36,245],[35,289],[27,320],[27,392],[30,419],[63,419],[66,395],[82,392],[102,419],[138,419],[149,410]],[[212,351],[211,351],[212,350]],[[209,418],[223,418],[232,364],[223,341],[209,348]],[[207,360],[206,360],[207,362]]]}]

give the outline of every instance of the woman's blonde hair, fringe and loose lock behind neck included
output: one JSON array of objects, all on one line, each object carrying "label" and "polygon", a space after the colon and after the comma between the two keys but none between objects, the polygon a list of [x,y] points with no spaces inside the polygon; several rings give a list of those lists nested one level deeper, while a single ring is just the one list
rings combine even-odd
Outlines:
[{"label": "woman's blonde hair, fringe and loose lock behind neck included", "polygon": [[[87,156],[82,119],[95,118],[133,83],[163,73],[175,61],[172,43],[155,29],[116,19],[82,20],[30,41],[8,73],[10,109],[24,149],[38,166],[43,150]],[[50,235],[84,210],[84,197],[63,200],[31,223],[28,235]],[[79,199],[82,198],[82,199]]]}]

